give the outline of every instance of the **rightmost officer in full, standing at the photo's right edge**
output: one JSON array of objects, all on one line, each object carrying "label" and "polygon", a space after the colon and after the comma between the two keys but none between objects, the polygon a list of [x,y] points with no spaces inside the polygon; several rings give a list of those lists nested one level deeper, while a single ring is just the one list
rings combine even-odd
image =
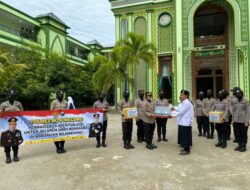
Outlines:
[{"label": "rightmost officer in full, standing at the photo's right edge", "polygon": [[238,146],[236,151],[245,152],[247,144],[247,131],[249,125],[249,110],[248,102],[243,98],[243,91],[236,90],[235,97],[237,98],[232,107],[233,126],[236,131],[236,139]]}]

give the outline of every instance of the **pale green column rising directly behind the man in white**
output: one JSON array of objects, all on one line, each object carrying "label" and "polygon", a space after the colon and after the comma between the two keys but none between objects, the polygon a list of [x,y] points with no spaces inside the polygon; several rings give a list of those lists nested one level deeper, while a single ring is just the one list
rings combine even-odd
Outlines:
[{"label": "pale green column rising directly behind the man in white", "polygon": [[183,89],[183,55],[182,55],[182,1],[175,1],[176,7],[176,94],[175,101],[178,102],[180,91]]}]

